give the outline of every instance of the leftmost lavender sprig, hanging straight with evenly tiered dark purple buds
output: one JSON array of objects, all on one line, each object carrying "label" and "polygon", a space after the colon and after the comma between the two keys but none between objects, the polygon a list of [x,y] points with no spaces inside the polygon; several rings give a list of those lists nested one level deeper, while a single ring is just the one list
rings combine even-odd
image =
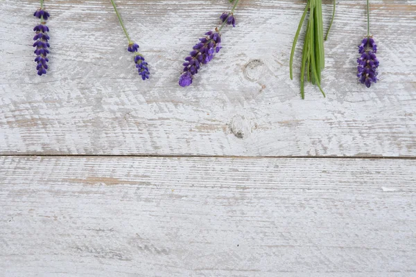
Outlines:
[{"label": "leftmost lavender sprig, hanging straight with evenly tiered dark purple buds", "polygon": [[35,26],[33,30],[36,32],[35,37],[33,37],[33,40],[35,40],[35,43],[33,44],[33,47],[35,47],[35,54],[37,57],[35,58],[35,62],[37,62],[36,70],[37,75],[42,76],[42,74],[46,74],[46,69],[48,69],[49,59],[46,57],[46,55],[49,54],[49,35],[47,34],[49,32],[48,26],[46,26],[46,20],[49,18],[49,12],[47,12],[44,9],[43,0],[40,0],[40,8],[35,11],[33,16],[40,19],[40,24]]}]

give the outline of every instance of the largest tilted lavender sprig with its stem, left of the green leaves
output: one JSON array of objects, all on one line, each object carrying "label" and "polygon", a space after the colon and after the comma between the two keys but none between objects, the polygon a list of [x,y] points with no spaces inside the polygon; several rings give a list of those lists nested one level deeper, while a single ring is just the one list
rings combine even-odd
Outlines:
[{"label": "largest tilted lavender sprig with its stem, left of the green leaves", "polygon": [[[230,0],[232,2],[232,0]],[[192,84],[193,75],[198,73],[202,64],[207,64],[214,58],[214,53],[218,53],[221,47],[221,34],[220,31],[225,25],[236,26],[236,18],[234,17],[234,10],[236,9],[239,0],[234,0],[234,6],[231,12],[224,12],[220,19],[223,21],[220,28],[216,28],[214,31],[210,30],[205,33],[205,37],[200,38],[200,42],[193,46],[193,51],[189,53],[189,56],[185,58],[183,64],[184,71],[179,78],[179,84],[181,87],[188,87]]]}]

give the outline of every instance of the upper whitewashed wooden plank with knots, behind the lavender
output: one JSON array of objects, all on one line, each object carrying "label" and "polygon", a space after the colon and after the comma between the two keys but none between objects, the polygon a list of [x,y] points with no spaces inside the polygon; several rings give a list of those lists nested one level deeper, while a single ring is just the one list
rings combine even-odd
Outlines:
[{"label": "upper whitewashed wooden plank with knots, behind the lavender", "polygon": [[[38,2],[1,1],[0,153],[415,157],[415,1],[372,1],[381,81],[371,89],[355,76],[365,1],[338,1],[327,98],[306,87],[306,100],[288,78],[303,0],[241,0],[222,51],[192,87],[177,85],[182,60],[227,2],[116,1],[150,64],[142,82],[110,1],[46,1],[51,70],[42,78],[31,46]],[[331,9],[324,1],[326,26]]]}]

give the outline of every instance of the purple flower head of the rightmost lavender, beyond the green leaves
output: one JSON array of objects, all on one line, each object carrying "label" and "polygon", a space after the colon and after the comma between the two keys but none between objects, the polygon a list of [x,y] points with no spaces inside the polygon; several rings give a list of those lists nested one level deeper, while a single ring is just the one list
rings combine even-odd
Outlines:
[{"label": "purple flower head of the rightmost lavender, beyond the green leaves", "polygon": [[360,45],[358,45],[358,52],[361,57],[358,58],[358,74],[361,84],[370,87],[371,83],[377,82],[377,67],[379,67],[379,60],[377,60],[377,45],[372,37],[365,37]]}]

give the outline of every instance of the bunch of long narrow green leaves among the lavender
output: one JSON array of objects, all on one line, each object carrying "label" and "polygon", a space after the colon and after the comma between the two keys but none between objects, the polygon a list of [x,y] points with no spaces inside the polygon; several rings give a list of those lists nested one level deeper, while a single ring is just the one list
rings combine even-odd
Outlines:
[{"label": "bunch of long narrow green leaves among the lavender", "polygon": [[[322,0],[307,0],[306,8],[300,19],[299,26],[297,27],[295,39],[293,40],[292,52],[291,52],[291,79],[293,80],[293,56],[295,55],[295,47],[297,39],[300,34],[300,30],[304,24],[306,14],[309,10],[309,19],[306,25],[306,35],[304,39],[304,46],[302,51],[302,66],[300,69],[300,94],[302,99],[304,96],[304,81],[305,81],[305,71],[306,71],[306,80],[316,84],[323,96],[325,93],[321,87],[321,72],[325,66],[325,54],[324,54],[324,27],[322,20]],[[333,17],[335,15],[335,0],[333,0]],[[332,25],[331,21],[331,25]],[[331,25],[328,28],[331,28]],[[327,36],[328,36],[327,33]],[[327,37],[325,38],[327,39]]]}]

